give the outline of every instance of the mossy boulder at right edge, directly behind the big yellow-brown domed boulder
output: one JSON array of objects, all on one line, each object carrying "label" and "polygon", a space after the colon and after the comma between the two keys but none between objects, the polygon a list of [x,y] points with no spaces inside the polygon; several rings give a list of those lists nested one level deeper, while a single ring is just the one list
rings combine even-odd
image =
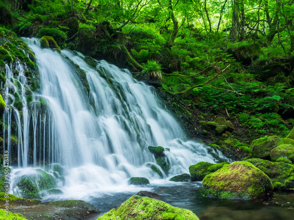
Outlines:
[{"label": "mossy boulder at right edge, directly behind the big yellow-brown domed boulder", "polygon": [[255,167],[263,171],[273,183],[275,189],[294,188],[294,165],[287,163],[270,162],[262,159],[248,159]]}]

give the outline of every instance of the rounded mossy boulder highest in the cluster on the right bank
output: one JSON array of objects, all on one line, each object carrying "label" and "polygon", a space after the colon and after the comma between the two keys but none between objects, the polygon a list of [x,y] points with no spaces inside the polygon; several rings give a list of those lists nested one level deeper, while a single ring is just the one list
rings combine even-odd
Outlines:
[{"label": "rounded mossy boulder highest in the cluster on the right bank", "polygon": [[278,136],[269,136],[254,140],[251,145],[251,151],[254,158],[266,158],[270,156],[270,151],[283,143]]}]

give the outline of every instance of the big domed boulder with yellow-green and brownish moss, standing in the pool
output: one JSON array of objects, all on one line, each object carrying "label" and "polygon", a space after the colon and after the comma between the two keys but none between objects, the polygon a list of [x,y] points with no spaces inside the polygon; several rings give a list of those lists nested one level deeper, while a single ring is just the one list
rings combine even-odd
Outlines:
[{"label": "big domed boulder with yellow-green and brownish moss, standing in the pool", "polygon": [[270,178],[247,161],[236,161],[207,175],[201,192],[205,197],[255,199],[273,191]]}]

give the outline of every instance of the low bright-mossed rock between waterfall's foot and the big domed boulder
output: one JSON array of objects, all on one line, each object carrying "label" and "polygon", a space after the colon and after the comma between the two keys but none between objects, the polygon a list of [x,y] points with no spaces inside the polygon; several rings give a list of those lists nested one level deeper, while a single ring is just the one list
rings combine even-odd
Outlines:
[{"label": "low bright-mossed rock between waterfall's foot and the big domed boulder", "polygon": [[222,168],[224,165],[230,164],[228,162],[223,162],[223,163],[208,163],[208,162],[199,162],[195,165],[191,165],[189,167],[189,172],[191,175],[191,180],[192,181],[201,181],[203,178],[212,173],[215,172],[216,170]]}]

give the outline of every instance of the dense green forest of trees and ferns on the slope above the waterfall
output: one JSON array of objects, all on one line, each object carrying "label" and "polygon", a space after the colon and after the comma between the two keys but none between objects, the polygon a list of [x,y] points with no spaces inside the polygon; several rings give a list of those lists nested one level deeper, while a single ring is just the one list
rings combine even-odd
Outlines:
[{"label": "dense green forest of trees and ferns on the slope above the waterfall", "polygon": [[[289,133],[292,1],[1,0],[0,9],[2,35],[12,30],[43,37],[44,47],[74,49],[128,67],[173,95],[172,108],[202,114],[200,121],[231,118],[252,139]],[[203,137],[232,134],[205,125],[196,130]]]}]

